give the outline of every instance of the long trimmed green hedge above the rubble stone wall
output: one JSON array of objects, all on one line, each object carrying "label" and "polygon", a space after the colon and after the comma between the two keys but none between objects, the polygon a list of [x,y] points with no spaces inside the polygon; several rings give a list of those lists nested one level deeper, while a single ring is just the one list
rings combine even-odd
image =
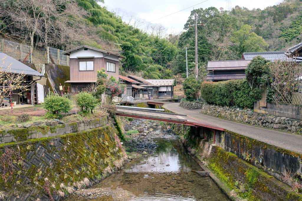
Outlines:
[{"label": "long trimmed green hedge above the rubble stone wall", "polygon": [[252,90],[246,80],[203,82],[201,96],[209,104],[240,108],[253,108],[261,99],[260,90]]}]

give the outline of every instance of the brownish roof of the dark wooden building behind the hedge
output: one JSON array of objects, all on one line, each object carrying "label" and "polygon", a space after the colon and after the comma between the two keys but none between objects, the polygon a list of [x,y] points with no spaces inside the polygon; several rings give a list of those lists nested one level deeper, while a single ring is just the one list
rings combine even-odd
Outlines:
[{"label": "brownish roof of the dark wooden building behind the hedge", "polygon": [[238,70],[246,69],[251,60],[208,61],[207,70]]}]

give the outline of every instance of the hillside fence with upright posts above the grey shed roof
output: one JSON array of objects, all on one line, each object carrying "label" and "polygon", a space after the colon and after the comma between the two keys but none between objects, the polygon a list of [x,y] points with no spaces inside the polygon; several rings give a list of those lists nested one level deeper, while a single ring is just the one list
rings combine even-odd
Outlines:
[{"label": "hillside fence with upright posts above the grey shed roof", "polygon": [[38,68],[47,63],[69,66],[69,56],[63,55],[63,50],[52,47],[31,50],[31,46],[0,39],[0,52],[4,52],[19,61],[34,63]]}]

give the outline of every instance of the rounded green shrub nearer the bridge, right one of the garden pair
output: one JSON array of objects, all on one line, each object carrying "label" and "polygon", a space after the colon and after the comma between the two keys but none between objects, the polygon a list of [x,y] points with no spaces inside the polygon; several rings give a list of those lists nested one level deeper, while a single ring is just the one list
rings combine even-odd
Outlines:
[{"label": "rounded green shrub nearer the bridge, right one of the garden pair", "polygon": [[81,108],[81,111],[88,112],[92,110],[98,105],[98,100],[92,96],[90,93],[81,92],[76,95],[76,104]]}]

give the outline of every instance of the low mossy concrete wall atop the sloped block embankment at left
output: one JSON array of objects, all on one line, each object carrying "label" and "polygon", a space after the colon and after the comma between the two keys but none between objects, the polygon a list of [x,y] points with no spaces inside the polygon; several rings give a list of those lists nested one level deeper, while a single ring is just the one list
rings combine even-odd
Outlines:
[{"label": "low mossy concrete wall atop the sloped block embankment at left", "polygon": [[33,126],[12,130],[0,130],[0,145],[3,143],[20,142],[41,137],[53,137],[68,133],[76,133],[92,128],[102,127],[108,123],[108,117],[95,118],[87,122],[73,122],[67,124],[50,123],[53,125]]}]

